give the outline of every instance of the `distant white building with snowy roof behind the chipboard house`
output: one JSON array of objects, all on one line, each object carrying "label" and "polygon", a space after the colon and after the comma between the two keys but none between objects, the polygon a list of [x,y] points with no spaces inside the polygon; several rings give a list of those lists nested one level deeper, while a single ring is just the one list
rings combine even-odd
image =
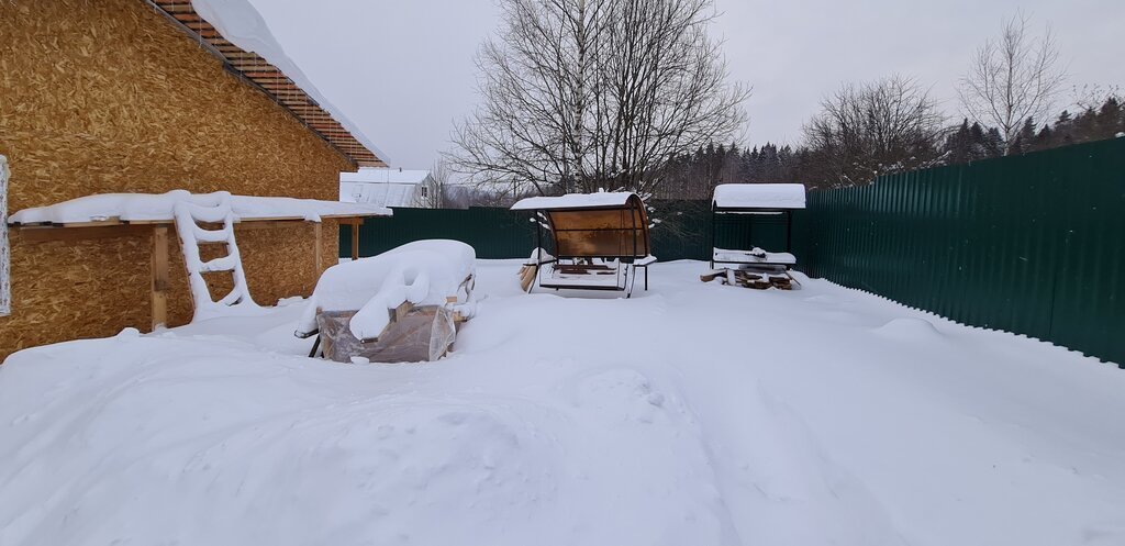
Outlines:
[{"label": "distant white building with snowy roof behind the chipboard house", "polygon": [[344,203],[436,208],[439,194],[436,180],[425,170],[360,167],[359,172],[340,173],[340,200]]}]

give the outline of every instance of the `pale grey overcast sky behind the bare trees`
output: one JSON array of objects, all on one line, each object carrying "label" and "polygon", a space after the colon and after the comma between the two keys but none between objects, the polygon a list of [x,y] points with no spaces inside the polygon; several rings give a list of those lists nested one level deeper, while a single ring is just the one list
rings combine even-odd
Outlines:
[{"label": "pale grey overcast sky behind the bare trees", "polygon": [[[286,53],[393,167],[430,168],[476,104],[478,45],[494,0],[253,0]],[[894,72],[956,116],[955,84],[980,44],[1023,9],[1050,23],[1072,84],[1125,87],[1123,0],[716,0],[731,77],[753,86],[744,143],[795,143],[842,82]],[[1058,109],[1070,102],[1069,87]]]}]

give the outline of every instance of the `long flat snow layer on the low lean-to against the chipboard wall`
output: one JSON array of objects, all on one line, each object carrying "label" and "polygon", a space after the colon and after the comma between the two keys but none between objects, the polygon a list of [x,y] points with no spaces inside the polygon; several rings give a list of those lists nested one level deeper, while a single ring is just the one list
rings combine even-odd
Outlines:
[{"label": "long flat snow layer on the low lean-to against the chipboard wall", "polygon": [[[25,208],[12,214],[12,224],[73,224],[118,218],[123,222],[171,222],[179,200],[209,203],[209,195],[192,195],[177,189],[166,194],[98,194],[45,207]],[[295,199],[291,197],[231,196],[231,207],[238,218],[305,218],[321,216],[389,216],[389,208],[361,204]]]}]

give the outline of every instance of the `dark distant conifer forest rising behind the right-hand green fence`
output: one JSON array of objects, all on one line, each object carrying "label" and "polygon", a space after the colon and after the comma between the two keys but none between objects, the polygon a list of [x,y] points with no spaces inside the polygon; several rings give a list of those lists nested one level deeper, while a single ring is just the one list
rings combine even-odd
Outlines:
[{"label": "dark distant conifer forest rising behind the right-hand green fence", "polygon": [[[1087,107],[1078,114],[1064,110],[1048,124],[1038,125],[1028,118],[1012,140],[1008,154],[1114,138],[1122,133],[1125,133],[1125,109],[1122,98],[1110,95],[1099,106]],[[840,172],[838,165],[862,161],[863,150],[853,151],[842,161],[838,149],[829,145],[767,143],[746,149],[737,144],[712,144],[668,162],[668,172],[655,197],[708,199],[714,186],[724,182],[803,182],[810,188],[854,186],[868,184],[879,174],[1005,155],[1000,131],[970,123],[968,118],[925,141],[910,150],[909,156],[892,156],[886,163],[871,168],[870,177],[857,180]]]}]

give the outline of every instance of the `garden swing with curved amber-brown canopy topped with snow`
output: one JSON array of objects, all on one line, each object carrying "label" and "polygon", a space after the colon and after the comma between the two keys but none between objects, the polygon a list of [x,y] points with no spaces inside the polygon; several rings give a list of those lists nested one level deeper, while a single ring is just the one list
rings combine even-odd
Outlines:
[{"label": "garden swing with curved amber-brown canopy topped with snow", "polygon": [[[632,295],[637,269],[648,289],[650,254],[645,202],[631,191],[529,197],[512,211],[530,211],[538,244],[521,270],[524,290],[542,288],[618,290]],[[543,230],[552,249],[543,249]]]}]

